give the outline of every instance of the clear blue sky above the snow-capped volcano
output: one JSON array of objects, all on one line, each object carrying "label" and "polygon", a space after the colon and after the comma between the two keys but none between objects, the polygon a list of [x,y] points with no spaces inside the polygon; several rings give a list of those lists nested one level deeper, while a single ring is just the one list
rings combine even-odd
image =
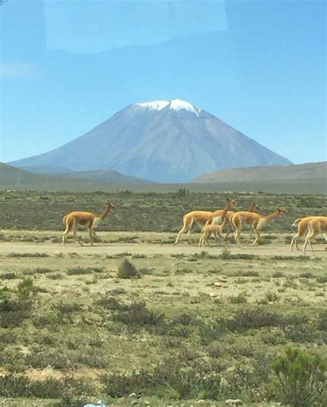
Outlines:
[{"label": "clear blue sky above the snow-capped volcano", "polygon": [[0,161],[172,98],[295,163],[326,160],[325,1],[8,0],[0,15]]}]

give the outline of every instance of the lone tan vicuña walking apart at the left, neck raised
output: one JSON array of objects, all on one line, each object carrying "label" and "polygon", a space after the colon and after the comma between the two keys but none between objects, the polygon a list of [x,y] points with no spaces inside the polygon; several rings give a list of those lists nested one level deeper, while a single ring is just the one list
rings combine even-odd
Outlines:
[{"label": "lone tan vicu\u00f1a walking apart at the left, neck raised", "polygon": [[77,238],[77,227],[78,225],[84,226],[88,228],[88,234],[90,236],[90,243],[93,246],[93,238],[95,237],[95,228],[99,225],[99,222],[106,218],[109,212],[115,209],[115,206],[108,202],[106,209],[103,211],[101,215],[92,214],[92,212],[70,212],[63,217],[63,225],[66,226],[66,230],[63,232],[63,246],[66,243],[66,236],[72,231],[75,240],[79,242],[80,245],[81,241]]}]

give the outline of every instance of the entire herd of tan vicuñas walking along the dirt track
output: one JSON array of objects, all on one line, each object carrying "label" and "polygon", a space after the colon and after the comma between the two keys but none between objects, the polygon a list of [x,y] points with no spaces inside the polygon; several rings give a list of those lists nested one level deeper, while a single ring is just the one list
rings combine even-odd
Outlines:
[{"label": "entire herd of tan vicu\u00f1as walking along the dirt track", "polygon": [[[192,243],[190,235],[192,234],[193,228],[195,225],[201,229],[201,238],[199,240],[199,247],[203,247],[205,243],[210,245],[209,238],[214,236],[217,243],[219,243],[218,236],[221,243],[224,243],[228,235],[234,230],[234,239],[238,247],[241,245],[241,232],[243,226],[247,225],[250,227],[250,237],[248,238],[248,243],[250,243],[253,233],[255,233],[255,240],[252,243],[254,246],[256,243],[259,243],[261,239],[260,231],[261,228],[266,224],[268,220],[275,219],[277,216],[286,213],[286,208],[279,207],[273,213],[268,215],[257,214],[259,207],[255,202],[252,202],[247,211],[231,211],[231,207],[236,207],[237,202],[233,199],[227,198],[226,205],[224,209],[218,209],[217,211],[191,211],[183,217],[183,227],[177,234],[174,245],[179,242],[181,235],[187,233],[188,242]],[[109,212],[115,209],[115,206],[108,202],[106,209],[102,214],[96,215],[92,212],[79,212],[74,211],[70,212],[63,217],[63,225],[66,226],[66,230],[63,232],[63,245],[66,243],[66,236],[72,231],[75,239],[81,245],[81,241],[77,238],[77,227],[79,225],[88,228],[88,233],[90,236],[90,244],[93,246],[93,238],[95,237],[95,228],[99,225],[99,222],[106,218]],[[221,233],[224,230],[225,225],[227,224],[227,234],[222,236]],[[326,216],[306,216],[306,218],[298,218],[294,221],[292,226],[297,226],[297,234],[295,234],[290,243],[290,249],[293,250],[293,247],[299,250],[297,242],[301,236],[306,235],[304,240],[304,249],[303,252],[306,252],[307,245],[310,245],[310,249],[313,250],[313,239],[320,233],[324,234],[325,242],[327,243],[327,217]],[[325,250],[327,247],[325,247]]]}]

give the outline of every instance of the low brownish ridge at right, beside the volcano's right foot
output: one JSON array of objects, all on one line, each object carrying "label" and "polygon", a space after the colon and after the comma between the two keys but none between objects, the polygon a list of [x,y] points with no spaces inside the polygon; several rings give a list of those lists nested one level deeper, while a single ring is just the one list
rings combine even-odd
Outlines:
[{"label": "low brownish ridge at right, beside the volcano's right foot", "polygon": [[248,182],[248,181],[282,181],[282,180],[326,180],[327,162],[308,162],[287,166],[248,167],[226,169],[202,174],[192,182]]}]

